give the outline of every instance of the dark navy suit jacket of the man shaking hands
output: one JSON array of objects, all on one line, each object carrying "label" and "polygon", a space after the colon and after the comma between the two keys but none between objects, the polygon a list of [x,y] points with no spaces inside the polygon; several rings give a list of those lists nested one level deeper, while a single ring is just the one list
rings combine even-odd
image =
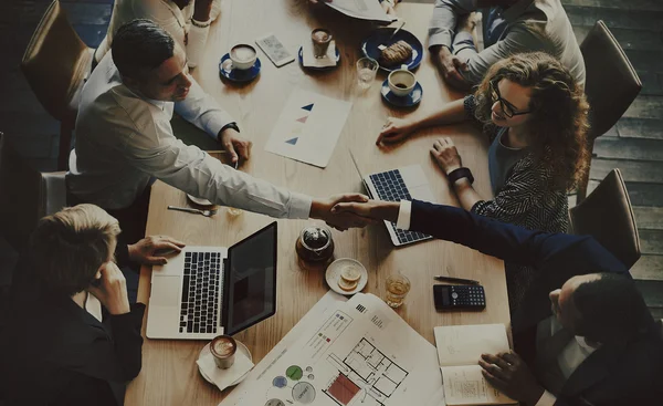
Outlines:
[{"label": "dark navy suit jacket of the man shaking hands", "polygon": [[[594,272],[629,274],[619,260],[589,236],[530,231],[455,207],[412,201],[410,229],[534,267],[536,279],[512,319],[514,333],[549,317],[548,293],[569,278]],[[491,298],[486,299],[490,303]],[[636,342],[594,351],[556,394],[556,405],[661,404],[663,343],[660,330],[651,321],[651,331]]]}]

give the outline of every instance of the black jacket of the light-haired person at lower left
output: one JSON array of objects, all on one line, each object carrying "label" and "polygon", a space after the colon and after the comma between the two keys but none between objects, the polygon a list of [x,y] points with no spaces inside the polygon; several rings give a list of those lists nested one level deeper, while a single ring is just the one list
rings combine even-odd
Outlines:
[{"label": "black jacket of the light-haired person at lower left", "polygon": [[[25,263],[25,262],[23,262]],[[123,405],[140,372],[145,305],[103,323],[71,298],[40,292],[24,269],[14,277],[10,320],[0,337],[0,399],[7,405]]]}]

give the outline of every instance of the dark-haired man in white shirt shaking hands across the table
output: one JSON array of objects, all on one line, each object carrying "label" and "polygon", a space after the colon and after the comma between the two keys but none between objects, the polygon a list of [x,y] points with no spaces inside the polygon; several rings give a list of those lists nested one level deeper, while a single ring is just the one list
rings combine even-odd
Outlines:
[{"label": "dark-haired man in white shirt shaking hands across the table", "polygon": [[219,139],[232,162],[249,158],[251,143],[232,117],[189,75],[182,48],[159,25],[134,20],[116,33],[113,50],[90,76],[76,118],[76,144],[66,175],[70,204],[92,202],[119,220],[127,242],[145,232],[149,186],[160,179],[214,204],[277,218],[318,218],[339,229],[364,226],[333,216],[339,200],[312,199],[221,164],[172,134],[173,111]]}]

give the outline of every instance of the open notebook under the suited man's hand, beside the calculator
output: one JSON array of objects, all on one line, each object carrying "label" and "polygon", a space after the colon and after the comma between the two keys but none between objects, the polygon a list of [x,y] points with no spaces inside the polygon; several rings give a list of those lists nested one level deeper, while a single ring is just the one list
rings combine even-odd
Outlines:
[{"label": "open notebook under the suited man's hand, beside the calculator", "polygon": [[516,403],[495,389],[481,373],[481,354],[508,351],[504,324],[435,327],[446,405],[505,405]]}]

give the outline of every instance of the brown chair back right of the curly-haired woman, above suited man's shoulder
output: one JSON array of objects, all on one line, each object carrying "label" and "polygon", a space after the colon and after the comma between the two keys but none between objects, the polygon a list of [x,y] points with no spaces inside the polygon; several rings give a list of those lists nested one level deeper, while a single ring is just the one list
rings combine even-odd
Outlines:
[{"label": "brown chair back right of the curly-haired woman, above suited man's shoulder", "polygon": [[575,235],[590,235],[631,268],[640,259],[640,237],[629,192],[619,169],[606,179],[580,205],[570,210]]}]

